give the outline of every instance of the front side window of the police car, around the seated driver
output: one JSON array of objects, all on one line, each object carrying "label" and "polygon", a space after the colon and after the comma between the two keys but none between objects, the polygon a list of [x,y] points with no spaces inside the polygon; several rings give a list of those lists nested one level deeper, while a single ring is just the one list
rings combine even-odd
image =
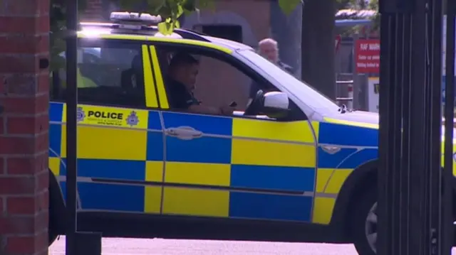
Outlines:
[{"label": "front side window of the police car, around the seated driver", "polygon": [[[173,73],[172,61],[173,58],[182,55],[190,55],[196,60],[198,67],[194,70],[188,70],[186,73]],[[247,71],[246,67],[242,67],[240,63],[235,63],[234,60],[229,60],[229,57],[221,57],[220,53],[212,50],[204,50],[198,48],[177,48],[177,47],[157,47],[157,56],[159,58],[162,76],[167,92],[167,98],[170,102],[170,110],[177,112],[185,112],[185,107],[182,104],[195,104],[195,102],[203,107],[212,109],[222,109],[228,107],[235,102],[233,116],[254,119],[272,119],[274,117],[266,116],[261,112],[247,114],[246,111],[252,100],[256,97],[259,89],[264,92],[278,91],[269,82],[256,77],[255,73]],[[173,69],[174,70],[174,69]],[[193,72],[193,73],[192,73]],[[253,72],[251,70],[251,72]],[[192,77],[192,75],[196,77]],[[183,76],[183,77],[182,77]],[[186,81],[186,77],[188,80]],[[192,87],[191,83],[194,83]],[[189,85],[187,92],[182,85]],[[178,91],[178,92],[177,92]],[[189,93],[187,97],[182,97],[183,93]],[[179,97],[177,97],[179,95]],[[182,102],[176,102],[182,101]],[[208,114],[207,112],[201,112]],[[221,113],[222,114],[222,113]]]}]

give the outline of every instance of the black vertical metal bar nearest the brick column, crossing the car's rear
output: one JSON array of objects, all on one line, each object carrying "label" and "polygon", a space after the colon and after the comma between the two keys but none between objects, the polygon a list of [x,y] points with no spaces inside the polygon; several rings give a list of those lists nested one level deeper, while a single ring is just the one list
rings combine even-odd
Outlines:
[{"label": "black vertical metal bar nearest the brick column, crossing the car's rear", "polygon": [[66,0],[66,210],[68,218],[66,229],[66,254],[76,255],[76,230],[77,230],[77,71],[76,61],[78,55],[77,36],[78,30],[78,0]]}]

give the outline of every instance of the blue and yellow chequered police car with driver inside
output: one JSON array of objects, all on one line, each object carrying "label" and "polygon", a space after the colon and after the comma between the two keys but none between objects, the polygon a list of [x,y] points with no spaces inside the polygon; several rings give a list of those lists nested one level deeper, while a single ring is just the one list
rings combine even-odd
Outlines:
[{"label": "blue and yellow chequered police car with driver inside", "polygon": [[[78,230],[354,243],[375,254],[378,114],[339,111],[248,45],[179,28],[166,36],[149,14],[111,17],[78,32]],[[206,104],[235,97],[232,116],[173,107],[165,77],[182,51],[211,81],[195,93]],[[49,109],[51,242],[66,215],[62,73]],[[261,91],[249,102],[252,82]]]}]

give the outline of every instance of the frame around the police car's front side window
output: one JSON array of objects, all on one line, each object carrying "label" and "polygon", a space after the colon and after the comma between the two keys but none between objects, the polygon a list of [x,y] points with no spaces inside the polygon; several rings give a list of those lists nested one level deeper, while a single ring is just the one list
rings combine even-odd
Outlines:
[{"label": "frame around the police car's front side window", "polygon": [[[180,50],[188,50],[190,53],[192,52],[197,52],[197,53],[192,53],[192,54],[199,54],[199,53],[207,53],[206,57],[207,58],[215,58],[219,61],[222,61],[224,63],[227,63],[228,65],[231,65],[232,67],[236,68],[239,72],[244,73],[247,77],[252,79],[252,81],[257,82],[259,87],[262,89],[268,89],[268,88],[274,88],[277,91],[281,91],[278,87],[274,86],[273,83],[269,82],[265,77],[263,77],[261,74],[259,74],[257,71],[255,71],[252,67],[249,67],[246,63],[242,62],[241,60],[237,59],[234,55],[226,53],[222,50],[217,50],[216,48],[208,48],[204,47],[202,45],[187,45],[183,43],[175,43],[175,42],[157,42],[157,41],[152,41],[150,42],[150,45],[155,46],[156,52],[162,48],[165,48],[166,50],[173,50],[173,51],[180,51]],[[155,52],[155,53],[156,53]],[[202,54],[204,55],[204,54]],[[153,56],[152,56],[153,58]],[[160,60],[159,60],[160,61]],[[162,72],[163,68],[161,67],[162,63],[159,63],[158,68],[153,68],[155,72],[160,71]],[[162,77],[164,74],[162,73]],[[157,75],[155,75],[156,77]],[[165,86],[164,81],[158,81],[155,83],[157,86],[162,84],[162,86],[165,87],[166,91],[166,97],[168,99],[168,92],[167,88]],[[162,99],[160,99],[162,100]],[[298,105],[292,100],[289,99],[290,101],[290,113],[288,114],[287,117],[281,118],[281,119],[271,119],[271,118],[254,118],[252,116],[239,116],[239,115],[218,115],[218,114],[202,114],[202,115],[207,115],[207,116],[226,116],[226,117],[232,117],[232,118],[241,118],[241,119],[257,119],[261,121],[276,121],[276,122],[291,122],[291,121],[308,121],[309,118],[306,116],[306,114],[298,107]],[[170,109],[170,108],[162,108],[160,105],[160,111],[164,112],[185,112],[179,109]],[[193,113],[193,112],[185,112],[188,114],[199,114],[199,113]]]}]

